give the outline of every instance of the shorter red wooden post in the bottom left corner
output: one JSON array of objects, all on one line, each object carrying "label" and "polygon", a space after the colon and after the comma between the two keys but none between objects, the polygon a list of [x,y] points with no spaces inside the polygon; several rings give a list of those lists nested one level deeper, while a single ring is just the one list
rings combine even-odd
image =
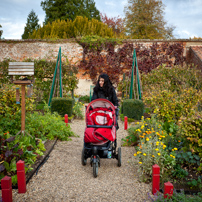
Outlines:
[{"label": "shorter red wooden post in the bottom left corner", "polygon": [[3,202],[12,202],[12,181],[11,177],[5,176],[1,179],[1,193]]}]

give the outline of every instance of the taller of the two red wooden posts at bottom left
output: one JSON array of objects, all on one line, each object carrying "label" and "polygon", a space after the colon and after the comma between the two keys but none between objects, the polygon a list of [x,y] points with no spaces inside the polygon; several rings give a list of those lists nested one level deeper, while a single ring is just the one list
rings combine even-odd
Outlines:
[{"label": "taller of the two red wooden posts at bottom left", "polygon": [[26,192],[25,163],[19,160],[17,166],[18,193]]}]

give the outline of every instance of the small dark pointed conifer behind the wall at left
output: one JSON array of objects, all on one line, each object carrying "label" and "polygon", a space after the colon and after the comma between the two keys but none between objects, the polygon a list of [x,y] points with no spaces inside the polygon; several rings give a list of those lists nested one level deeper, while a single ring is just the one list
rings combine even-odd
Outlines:
[{"label": "small dark pointed conifer behind the wall at left", "polygon": [[24,28],[22,39],[28,39],[29,35],[31,35],[34,30],[37,30],[39,28],[38,22],[39,22],[38,16],[35,14],[33,10],[31,10],[31,12],[27,17],[27,23]]}]

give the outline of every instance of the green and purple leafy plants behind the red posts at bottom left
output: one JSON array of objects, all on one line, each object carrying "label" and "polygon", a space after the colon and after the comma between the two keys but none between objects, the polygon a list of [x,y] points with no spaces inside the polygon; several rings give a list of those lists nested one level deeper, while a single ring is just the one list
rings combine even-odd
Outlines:
[{"label": "green and purple leafy plants behind the red posts at bottom left", "polygon": [[1,135],[0,149],[2,151],[0,159],[3,164],[0,165],[0,177],[12,177],[12,183],[17,183],[16,179],[16,163],[19,160],[25,162],[25,171],[31,169],[31,165],[37,159],[37,156],[42,156],[45,151],[44,144],[41,140],[36,140],[30,136],[17,135],[12,136],[9,132]]}]

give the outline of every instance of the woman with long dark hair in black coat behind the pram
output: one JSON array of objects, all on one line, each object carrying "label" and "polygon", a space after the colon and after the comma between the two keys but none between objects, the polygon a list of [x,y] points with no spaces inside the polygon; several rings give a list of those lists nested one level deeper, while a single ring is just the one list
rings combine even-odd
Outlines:
[{"label": "woman with long dark hair in black coat behind the pram", "polygon": [[101,74],[98,78],[96,86],[93,89],[92,100],[104,98],[109,100],[114,106],[118,107],[118,99],[112,82],[107,74]]}]

